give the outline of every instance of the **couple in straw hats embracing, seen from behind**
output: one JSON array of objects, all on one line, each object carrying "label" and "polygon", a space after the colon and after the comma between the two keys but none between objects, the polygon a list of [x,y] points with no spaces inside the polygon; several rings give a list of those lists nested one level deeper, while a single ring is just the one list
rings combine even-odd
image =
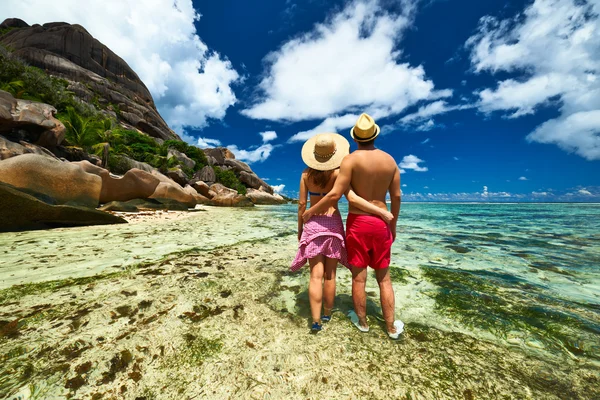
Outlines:
[{"label": "couple in straw hats embracing, seen from behind", "polygon": [[[362,114],[350,130],[358,150],[337,133],[322,133],[309,139],[302,148],[308,168],[300,180],[298,202],[299,248],[290,269],[310,266],[308,295],[312,331],[331,320],[335,298],[338,262],[352,271],[354,312],[349,316],[361,332],[367,324],[367,266],[375,270],[381,309],[390,338],[397,339],[404,324],[395,320],[395,298],[389,274],[392,243],[400,213],[400,171],[389,154],[375,148],[380,133],[373,118]],[[387,210],[389,192],[391,213]],[[346,234],[338,201],[346,195],[348,218]],[[307,200],[311,207],[307,210]],[[324,313],[321,316],[321,306]]]}]

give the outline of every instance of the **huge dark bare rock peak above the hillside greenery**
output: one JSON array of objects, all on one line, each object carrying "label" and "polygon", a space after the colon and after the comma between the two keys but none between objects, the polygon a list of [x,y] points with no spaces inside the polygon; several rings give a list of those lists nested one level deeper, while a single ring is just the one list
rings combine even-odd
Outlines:
[{"label": "huge dark bare rock peak above the hillside greenery", "polygon": [[120,118],[135,128],[152,137],[180,140],[137,74],[82,26],[61,22],[22,27],[0,36],[0,44],[33,66],[82,84],[74,90],[82,101],[118,104]]}]

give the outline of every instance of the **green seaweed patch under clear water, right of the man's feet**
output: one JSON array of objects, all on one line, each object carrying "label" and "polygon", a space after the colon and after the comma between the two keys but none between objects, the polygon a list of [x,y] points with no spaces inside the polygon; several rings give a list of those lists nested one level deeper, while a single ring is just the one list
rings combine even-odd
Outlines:
[{"label": "green seaweed patch under clear water, right of the man's feet", "polygon": [[539,288],[509,274],[430,265],[421,269],[439,286],[434,295],[437,310],[468,327],[502,338],[511,331],[525,332],[548,349],[600,358],[594,351],[600,345],[600,320],[575,314],[567,301],[544,296]]}]

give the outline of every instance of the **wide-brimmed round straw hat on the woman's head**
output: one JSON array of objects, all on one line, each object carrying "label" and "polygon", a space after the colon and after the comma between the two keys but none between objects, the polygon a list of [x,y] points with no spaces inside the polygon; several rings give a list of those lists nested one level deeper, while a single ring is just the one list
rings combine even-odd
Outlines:
[{"label": "wide-brimmed round straw hat on the woman's head", "polygon": [[319,133],[302,146],[302,161],[312,169],[329,171],[350,153],[350,143],[337,133]]}]

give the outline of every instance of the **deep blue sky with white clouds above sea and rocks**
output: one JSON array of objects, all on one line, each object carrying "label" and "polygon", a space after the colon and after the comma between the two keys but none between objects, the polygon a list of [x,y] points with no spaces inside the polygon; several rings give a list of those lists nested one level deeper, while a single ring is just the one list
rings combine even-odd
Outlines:
[{"label": "deep blue sky with white clouds above sea and rocks", "polygon": [[[298,192],[366,112],[404,201],[600,202],[600,0],[4,0],[120,55],[187,142]],[[352,143],[352,150],[356,145]]]}]

